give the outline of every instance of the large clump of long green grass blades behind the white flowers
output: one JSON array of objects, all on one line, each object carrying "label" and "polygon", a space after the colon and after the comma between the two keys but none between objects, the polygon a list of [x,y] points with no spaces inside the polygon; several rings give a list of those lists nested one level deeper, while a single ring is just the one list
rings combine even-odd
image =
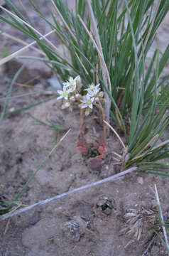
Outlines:
[{"label": "large clump of long green grass blades behind the white flowers", "polygon": [[61,0],[50,0],[47,7],[53,21],[48,21],[29,0],[65,45],[66,55],[21,14],[14,1],[5,2],[9,9],[1,6],[5,16],[0,19],[32,38],[44,56],[24,58],[44,62],[60,81],[80,76],[86,89],[92,82],[100,83],[107,122],[111,117],[114,129],[125,138],[119,159],[122,169],[138,166],[141,171],[169,176],[168,164],[163,161],[169,156],[169,140],[157,144],[169,121],[168,76],[160,76],[168,62],[169,46],[164,53],[157,47],[153,58],[148,58],[169,2],[77,0],[73,13]]}]

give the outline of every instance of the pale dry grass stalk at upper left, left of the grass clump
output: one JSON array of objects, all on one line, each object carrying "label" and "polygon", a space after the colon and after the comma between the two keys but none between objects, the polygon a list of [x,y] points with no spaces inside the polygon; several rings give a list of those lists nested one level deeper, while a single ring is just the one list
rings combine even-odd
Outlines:
[{"label": "pale dry grass stalk at upper left, left of the grass clump", "polygon": [[[47,36],[50,36],[53,32],[55,32],[55,29],[53,31],[48,32],[47,34],[45,34],[44,36],[40,37],[39,40],[44,39]],[[12,60],[13,58],[16,58],[18,55],[20,55],[21,53],[23,53],[24,50],[27,50],[28,48],[31,48],[31,46],[34,46],[37,42],[33,41],[32,43],[29,43],[28,46],[24,46],[23,48],[21,48],[20,50],[17,50],[15,53],[12,53],[11,55],[7,56],[6,58],[3,58],[0,60],[0,65],[3,65],[5,63],[7,63],[9,60]],[[37,49],[38,50],[38,49]],[[42,52],[43,53],[43,52]],[[43,53],[43,55],[45,55],[45,53]]]}]

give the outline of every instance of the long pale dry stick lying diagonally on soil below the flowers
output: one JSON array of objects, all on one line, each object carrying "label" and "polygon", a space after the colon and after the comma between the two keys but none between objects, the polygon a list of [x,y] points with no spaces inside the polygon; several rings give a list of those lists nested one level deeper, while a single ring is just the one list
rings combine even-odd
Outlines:
[{"label": "long pale dry stick lying diagonally on soil below the flowers", "polygon": [[58,195],[58,196],[53,196],[53,198],[48,198],[48,199],[45,199],[45,200],[40,201],[40,202],[38,202],[38,203],[34,203],[34,204],[31,205],[31,206],[27,206],[27,207],[21,208],[20,210],[16,210],[16,211],[13,212],[13,213],[7,213],[7,214],[5,214],[5,215],[0,216],[0,222],[1,222],[2,220],[6,220],[6,219],[8,219],[8,218],[11,218],[11,217],[13,217],[13,216],[15,216],[15,215],[18,215],[18,214],[27,212],[28,210],[32,210],[33,208],[36,208],[37,206],[44,206],[44,205],[47,204],[47,203],[51,203],[51,202],[53,202],[53,201],[58,201],[59,199],[65,198],[66,196],[72,195],[72,194],[74,194],[74,193],[76,193],[76,192],[84,191],[84,190],[86,190],[87,188],[92,188],[92,187],[98,186],[98,185],[100,185],[100,184],[102,184],[102,183],[107,183],[107,182],[109,182],[109,181],[117,180],[117,179],[121,178],[122,176],[131,173],[131,171],[136,171],[136,169],[137,169],[137,167],[134,166],[134,167],[132,167],[132,168],[130,168],[130,169],[127,169],[127,170],[125,170],[125,171],[122,171],[122,172],[119,173],[119,174],[115,174],[115,175],[113,175],[113,176],[109,176],[108,178],[104,178],[104,179],[102,179],[102,180],[89,183],[89,184],[84,185],[84,186],[81,186],[81,187],[79,187],[79,188],[72,189],[71,191],[67,191],[67,192],[62,193],[62,194],[60,194],[60,195]]}]

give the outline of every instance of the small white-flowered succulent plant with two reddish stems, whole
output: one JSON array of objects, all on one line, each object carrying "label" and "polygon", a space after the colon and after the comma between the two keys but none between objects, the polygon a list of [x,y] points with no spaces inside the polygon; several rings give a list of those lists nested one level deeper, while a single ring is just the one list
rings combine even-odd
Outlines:
[{"label": "small white-flowered succulent plant with two reddish stems, whole", "polygon": [[[73,103],[77,102],[78,107],[80,107],[80,135],[77,141],[77,150],[82,154],[87,155],[89,153],[89,146],[85,139],[87,134],[87,129],[85,127],[85,116],[92,114],[94,107],[96,107],[102,114],[102,125],[104,127],[103,134],[99,136],[99,146],[97,148],[98,155],[92,159],[94,166],[99,166],[102,163],[102,159],[105,156],[105,137],[106,137],[106,127],[103,122],[105,119],[104,109],[102,103],[104,103],[104,92],[101,91],[100,85],[94,85],[92,83],[87,89],[82,90],[82,81],[80,75],[76,78],[70,77],[67,82],[62,83],[62,90],[58,90],[58,100],[62,100],[61,108],[64,110],[69,107],[72,111]],[[94,161],[93,161],[94,160]]]}]

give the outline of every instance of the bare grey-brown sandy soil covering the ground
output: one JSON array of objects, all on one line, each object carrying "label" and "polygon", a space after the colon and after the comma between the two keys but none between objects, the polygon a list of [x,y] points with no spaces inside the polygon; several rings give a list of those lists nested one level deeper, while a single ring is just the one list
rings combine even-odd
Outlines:
[{"label": "bare grey-brown sandy soil covering the ground", "polygon": [[[163,31],[163,36],[166,36],[166,30],[163,29]],[[12,46],[11,50],[15,47]],[[30,65],[27,65],[27,68],[29,70]],[[9,81],[9,73],[2,73],[1,96],[6,94]],[[34,88],[39,85],[43,90],[48,89],[45,77],[40,78]],[[16,85],[13,95],[26,92],[31,90]],[[2,122],[0,183],[4,185],[4,190],[0,196],[11,200],[28,181],[33,171],[36,171],[38,164],[48,155],[55,140],[60,139],[64,134],[64,132],[57,133],[48,126],[37,124],[31,116],[44,122],[48,117],[57,123],[62,123],[65,132],[71,128],[71,132],[38,171],[36,178],[31,181],[20,198],[23,204],[30,205],[70,191],[72,188],[106,178],[119,171],[114,166],[111,154],[114,150],[121,151],[116,137],[111,134],[107,140],[107,158],[102,168],[90,169],[76,149],[80,128],[79,111],[77,109],[72,113],[62,111],[59,103],[55,99],[50,100],[50,97],[52,98],[53,95],[39,93],[10,100],[8,110],[13,107],[15,109],[24,107],[40,100],[48,101],[6,118]],[[90,119],[90,122],[97,129],[99,125],[97,119]],[[167,131],[165,137],[168,137]],[[130,209],[139,211],[141,207],[153,208],[156,201],[150,187],[153,187],[154,183],[158,186],[163,211],[168,212],[168,180],[147,174],[129,174],[118,181],[89,188],[57,203],[50,203],[2,222],[1,255],[140,256],[152,239],[151,225],[146,221],[143,223],[140,241],[121,230],[126,227],[127,211]],[[109,210],[109,215],[99,207],[103,197],[109,197],[114,202],[114,208]],[[155,238],[151,250],[146,255],[165,256],[167,254],[160,240]]]}]

